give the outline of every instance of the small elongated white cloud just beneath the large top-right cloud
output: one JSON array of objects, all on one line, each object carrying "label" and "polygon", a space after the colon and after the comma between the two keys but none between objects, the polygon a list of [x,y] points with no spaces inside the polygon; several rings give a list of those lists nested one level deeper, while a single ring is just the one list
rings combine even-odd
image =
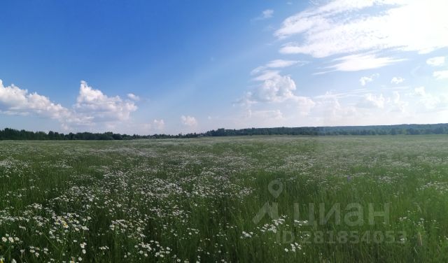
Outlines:
[{"label": "small elongated white cloud just beneath the large top-right cloud", "polygon": [[[348,55],[333,59],[335,64],[328,66],[330,71],[362,71],[365,69],[377,69],[381,66],[387,66],[405,59],[395,59],[393,57],[377,57],[374,54]],[[324,71],[321,73],[326,73]]]}]

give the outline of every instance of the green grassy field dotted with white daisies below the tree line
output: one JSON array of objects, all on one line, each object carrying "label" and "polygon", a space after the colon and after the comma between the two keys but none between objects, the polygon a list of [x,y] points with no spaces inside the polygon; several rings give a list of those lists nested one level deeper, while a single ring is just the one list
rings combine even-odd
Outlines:
[{"label": "green grassy field dotted with white daisies below the tree line", "polygon": [[0,141],[0,194],[0,262],[448,262],[447,136]]}]

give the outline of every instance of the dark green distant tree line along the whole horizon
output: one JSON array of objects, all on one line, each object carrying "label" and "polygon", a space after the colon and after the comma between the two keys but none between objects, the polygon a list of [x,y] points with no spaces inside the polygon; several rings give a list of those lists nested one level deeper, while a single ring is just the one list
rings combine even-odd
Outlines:
[{"label": "dark green distant tree line along the whole horizon", "polygon": [[134,140],[139,138],[195,138],[200,136],[252,136],[252,135],[417,135],[417,134],[448,134],[448,124],[435,125],[377,125],[377,126],[339,126],[339,127],[276,127],[249,129],[216,129],[202,133],[190,134],[153,134],[128,135],[113,132],[62,134],[56,131],[25,131],[24,129],[5,128],[0,130],[1,140]]}]

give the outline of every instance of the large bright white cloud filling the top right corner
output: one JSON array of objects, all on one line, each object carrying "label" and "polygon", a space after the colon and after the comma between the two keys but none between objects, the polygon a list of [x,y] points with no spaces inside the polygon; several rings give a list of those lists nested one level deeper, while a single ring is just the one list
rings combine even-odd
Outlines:
[{"label": "large bright white cloud filling the top right corner", "polygon": [[275,36],[298,35],[281,52],[328,57],[401,50],[428,53],[448,46],[444,0],[335,0],[284,20]]}]

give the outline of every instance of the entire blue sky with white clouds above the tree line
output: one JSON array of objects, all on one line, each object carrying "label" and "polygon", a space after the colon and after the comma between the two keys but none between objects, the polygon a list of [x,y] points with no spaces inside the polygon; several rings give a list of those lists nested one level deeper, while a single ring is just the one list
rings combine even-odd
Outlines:
[{"label": "entire blue sky with white clouds above the tree line", "polygon": [[447,3],[0,3],[0,128],[448,122]]}]

